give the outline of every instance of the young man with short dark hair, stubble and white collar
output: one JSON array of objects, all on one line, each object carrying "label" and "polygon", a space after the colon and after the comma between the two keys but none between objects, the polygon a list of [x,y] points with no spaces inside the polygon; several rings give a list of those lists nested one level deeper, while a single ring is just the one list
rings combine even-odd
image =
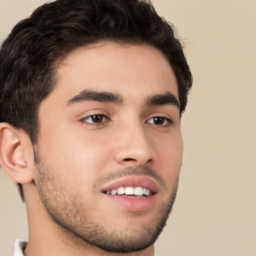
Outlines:
[{"label": "young man with short dark hair, stubble and white collar", "polygon": [[56,0],[0,49],[0,164],[26,203],[14,255],[153,255],[177,190],[191,73],[141,0]]}]

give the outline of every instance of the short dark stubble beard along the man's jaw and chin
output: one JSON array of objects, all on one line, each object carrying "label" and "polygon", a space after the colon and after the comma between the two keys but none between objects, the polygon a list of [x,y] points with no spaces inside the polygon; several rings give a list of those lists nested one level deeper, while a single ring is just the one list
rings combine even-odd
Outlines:
[{"label": "short dark stubble beard along the man's jaw and chin", "polygon": [[[178,178],[167,200],[159,208],[157,216],[148,225],[113,227],[107,224],[106,220],[95,219],[92,214],[88,214],[90,205],[82,203],[82,196],[72,193],[62,184],[61,177],[45,166],[36,154],[35,159],[35,187],[39,198],[48,215],[65,234],[74,235],[105,251],[128,253],[152,245],[165,226],[176,197]],[[133,212],[134,215],[136,213]],[[141,217],[141,214],[137,213],[138,217]]]}]

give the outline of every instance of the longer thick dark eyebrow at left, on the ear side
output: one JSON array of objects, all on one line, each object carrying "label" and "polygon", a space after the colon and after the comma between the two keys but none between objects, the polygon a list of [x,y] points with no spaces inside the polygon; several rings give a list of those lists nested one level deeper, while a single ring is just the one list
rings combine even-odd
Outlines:
[{"label": "longer thick dark eyebrow at left, on the ear side", "polygon": [[123,98],[117,93],[84,89],[67,101],[66,106],[83,101],[98,101],[121,105]]}]

